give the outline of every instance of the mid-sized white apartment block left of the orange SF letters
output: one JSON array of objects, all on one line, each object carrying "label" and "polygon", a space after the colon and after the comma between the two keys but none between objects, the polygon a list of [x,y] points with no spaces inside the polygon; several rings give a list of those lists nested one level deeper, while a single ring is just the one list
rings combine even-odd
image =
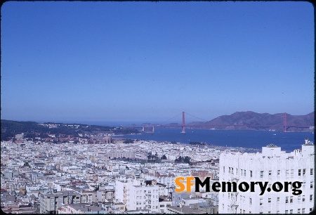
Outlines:
[{"label": "mid-sized white apartment block left of the orange SF letters", "polygon": [[145,185],[143,178],[116,181],[115,198],[126,205],[126,210],[159,212],[159,186]]}]

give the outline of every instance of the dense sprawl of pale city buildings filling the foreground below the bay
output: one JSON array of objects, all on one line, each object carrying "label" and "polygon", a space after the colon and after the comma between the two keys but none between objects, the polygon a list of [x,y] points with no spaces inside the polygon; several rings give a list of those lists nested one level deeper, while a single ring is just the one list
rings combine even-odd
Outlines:
[{"label": "dense sprawl of pale city buildings filling the foreground below the bay", "polygon": [[[41,124],[41,126],[46,126]],[[53,124],[51,128],[55,127]],[[78,126],[77,126],[78,129]],[[204,143],[131,140],[111,132],[77,137],[18,133],[1,141],[1,210],[17,214],[296,214],[314,207],[314,145],[286,153]],[[176,192],[176,178],[302,181],[303,193]],[[269,183],[269,187],[271,184]],[[206,192],[207,191],[207,192]]]}]

